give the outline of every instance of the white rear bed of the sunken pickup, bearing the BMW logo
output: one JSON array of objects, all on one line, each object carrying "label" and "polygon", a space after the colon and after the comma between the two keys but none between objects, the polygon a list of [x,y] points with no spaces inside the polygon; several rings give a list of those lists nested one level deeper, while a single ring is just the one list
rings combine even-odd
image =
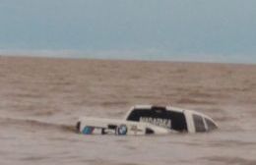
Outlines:
[{"label": "white rear bed of the sunken pickup, bearing the BMW logo", "polygon": [[140,136],[150,134],[166,135],[171,132],[168,129],[149,123],[87,117],[79,119],[77,129],[84,135]]}]

